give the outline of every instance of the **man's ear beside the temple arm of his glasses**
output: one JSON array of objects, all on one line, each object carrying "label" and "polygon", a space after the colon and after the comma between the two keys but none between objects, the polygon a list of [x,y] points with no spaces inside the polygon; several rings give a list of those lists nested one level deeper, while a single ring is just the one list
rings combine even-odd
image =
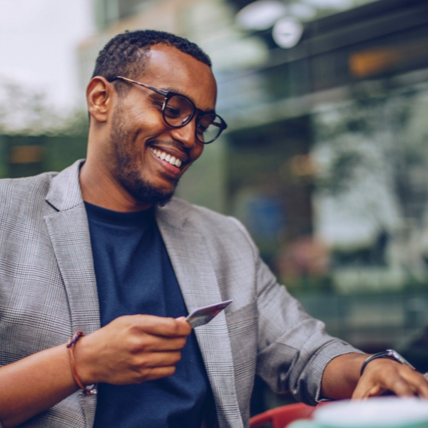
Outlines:
[{"label": "man's ear beside the temple arm of his glasses", "polygon": [[100,123],[107,121],[114,95],[116,95],[114,86],[107,79],[102,76],[91,79],[86,88],[86,102],[88,112],[95,121]]}]

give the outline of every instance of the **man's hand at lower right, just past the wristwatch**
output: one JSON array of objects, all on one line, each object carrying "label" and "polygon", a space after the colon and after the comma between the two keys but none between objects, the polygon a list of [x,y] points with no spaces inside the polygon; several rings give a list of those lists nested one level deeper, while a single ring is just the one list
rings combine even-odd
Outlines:
[{"label": "man's hand at lower right, just past the wristwatch", "polygon": [[425,377],[405,364],[387,359],[370,362],[359,380],[352,399],[392,391],[398,396],[420,396],[428,399],[428,382]]}]

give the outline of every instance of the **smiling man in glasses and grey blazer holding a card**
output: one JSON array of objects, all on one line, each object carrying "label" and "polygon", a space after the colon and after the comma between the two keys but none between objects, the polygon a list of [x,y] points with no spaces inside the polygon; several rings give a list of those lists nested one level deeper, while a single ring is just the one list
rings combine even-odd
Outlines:
[{"label": "smiling man in glasses and grey blazer holding a card", "polygon": [[[370,361],[360,378],[367,356],[276,284],[239,222],[170,200],[225,128],[196,45],[116,36],[86,95],[86,161],[1,182],[3,427],[248,427],[255,373],[312,404],[428,397],[396,361]],[[194,333],[182,318],[227,299]],[[76,330],[86,335],[67,348]],[[79,384],[98,384],[98,403]]]}]

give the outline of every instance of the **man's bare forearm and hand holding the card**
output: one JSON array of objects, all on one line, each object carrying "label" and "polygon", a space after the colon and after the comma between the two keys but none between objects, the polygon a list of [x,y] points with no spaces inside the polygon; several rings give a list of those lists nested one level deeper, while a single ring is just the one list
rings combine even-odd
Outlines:
[{"label": "man's bare forearm and hand holding the card", "polygon": [[[85,385],[131,384],[175,372],[192,328],[185,318],[121,316],[74,345]],[[0,367],[0,422],[17,427],[76,392],[65,343]]]}]

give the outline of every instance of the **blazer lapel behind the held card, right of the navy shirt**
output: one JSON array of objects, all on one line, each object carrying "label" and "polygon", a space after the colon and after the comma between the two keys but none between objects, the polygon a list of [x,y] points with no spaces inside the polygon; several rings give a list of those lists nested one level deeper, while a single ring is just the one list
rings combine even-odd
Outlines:
[{"label": "blazer lapel behind the held card, right of the navy shirt", "polygon": [[[173,204],[157,210],[156,217],[187,310],[191,312],[221,302],[222,297],[203,235],[182,220],[182,213],[170,207]],[[243,427],[225,312],[206,326],[196,328],[195,334],[213,390],[220,427]]]}]

